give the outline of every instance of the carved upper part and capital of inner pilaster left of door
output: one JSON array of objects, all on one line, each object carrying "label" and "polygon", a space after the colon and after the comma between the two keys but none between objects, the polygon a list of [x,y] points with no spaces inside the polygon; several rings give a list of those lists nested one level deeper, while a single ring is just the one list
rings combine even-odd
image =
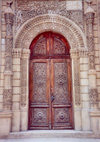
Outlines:
[{"label": "carved upper part and capital of inner pilaster left of door", "polygon": [[23,49],[21,59],[21,106],[25,107],[27,102],[28,92],[28,65],[29,65],[30,50]]}]

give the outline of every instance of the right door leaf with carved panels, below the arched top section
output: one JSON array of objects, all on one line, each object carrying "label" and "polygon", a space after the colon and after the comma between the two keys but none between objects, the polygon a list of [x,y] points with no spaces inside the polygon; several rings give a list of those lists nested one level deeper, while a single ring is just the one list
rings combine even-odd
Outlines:
[{"label": "right door leaf with carved panels, below the arched top section", "polygon": [[72,128],[71,123],[71,100],[68,88],[71,82],[68,78],[69,64],[68,59],[53,59],[53,95],[52,117],[53,129]]}]

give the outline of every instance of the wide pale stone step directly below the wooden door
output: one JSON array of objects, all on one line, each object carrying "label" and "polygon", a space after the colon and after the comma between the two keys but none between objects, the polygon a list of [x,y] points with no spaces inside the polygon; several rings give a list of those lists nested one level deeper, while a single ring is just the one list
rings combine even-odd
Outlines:
[{"label": "wide pale stone step directly below the wooden door", "polygon": [[100,138],[100,134],[92,131],[76,130],[28,130],[22,132],[11,132],[7,139],[19,138]]}]

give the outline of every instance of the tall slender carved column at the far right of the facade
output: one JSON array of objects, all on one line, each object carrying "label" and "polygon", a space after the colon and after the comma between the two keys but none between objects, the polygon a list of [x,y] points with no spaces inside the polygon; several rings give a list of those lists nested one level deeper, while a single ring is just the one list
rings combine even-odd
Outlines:
[{"label": "tall slender carved column at the far right of the facade", "polygon": [[87,43],[89,50],[89,97],[91,107],[98,104],[98,93],[96,87],[96,70],[95,70],[95,54],[94,54],[94,37],[93,37],[93,23],[94,10],[91,8],[91,0],[87,1],[88,8],[85,11],[86,27],[87,27]]}]

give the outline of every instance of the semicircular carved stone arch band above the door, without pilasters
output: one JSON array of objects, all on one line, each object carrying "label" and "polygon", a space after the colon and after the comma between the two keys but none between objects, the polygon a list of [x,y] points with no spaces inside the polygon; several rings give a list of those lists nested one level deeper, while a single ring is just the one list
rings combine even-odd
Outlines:
[{"label": "semicircular carved stone arch band above the door, without pilasters", "polygon": [[53,31],[63,35],[71,48],[87,48],[86,37],[73,21],[57,14],[36,16],[25,22],[15,36],[15,48],[29,48],[40,33]]}]

